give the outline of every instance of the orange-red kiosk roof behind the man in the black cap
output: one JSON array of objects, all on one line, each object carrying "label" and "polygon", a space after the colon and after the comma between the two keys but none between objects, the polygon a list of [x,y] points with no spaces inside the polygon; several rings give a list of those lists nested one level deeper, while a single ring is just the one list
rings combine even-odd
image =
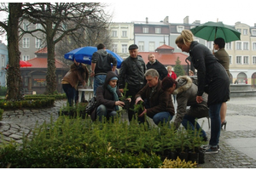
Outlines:
[{"label": "orange-red kiosk roof behind the man in the black cap", "polygon": [[148,54],[154,54],[155,59],[160,61],[160,63],[163,65],[176,65],[177,57],[179,57],[179,60],[181,61],[181,65],[188,65],[185,62],[185,59],[188,57],[188,55],[182,54],[182,53],[159,54],[159,53],[152,53],[152,52],[139,52],[138,54],[143,57],[143,60],[146,65],[148,63]]}]

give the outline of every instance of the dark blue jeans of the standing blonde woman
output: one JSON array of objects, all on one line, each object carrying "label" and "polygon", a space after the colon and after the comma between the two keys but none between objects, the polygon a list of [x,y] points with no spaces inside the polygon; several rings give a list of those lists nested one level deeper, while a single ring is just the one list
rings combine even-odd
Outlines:
[{"label": "dark blue jeans of the standing blonde woman", "polygon": [[211,139],[209,141],[209,144],[212,146],[218,145],[220,129],[221,129],[220,116],[219,116],[221,105],[222,103],[209,105],[209,115],[211,117]]}]

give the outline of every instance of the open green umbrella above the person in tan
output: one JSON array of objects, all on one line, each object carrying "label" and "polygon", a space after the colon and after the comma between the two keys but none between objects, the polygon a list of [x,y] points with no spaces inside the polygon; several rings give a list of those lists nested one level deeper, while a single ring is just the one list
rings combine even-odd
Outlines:
[{"label": "open green umbrella above the person in tan", "polygon": [[207,22],[190,29],[195,37],[201,37],[207,41],[214,41],[217,37],[224,38],[225,42],[240,40],[241,33],[232,26],[222,22]]}]

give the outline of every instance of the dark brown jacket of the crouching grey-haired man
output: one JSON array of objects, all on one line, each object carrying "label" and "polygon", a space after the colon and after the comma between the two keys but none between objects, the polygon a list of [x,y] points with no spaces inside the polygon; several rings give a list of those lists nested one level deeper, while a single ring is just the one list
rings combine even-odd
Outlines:
[{"label": "dark brown jacket of the crouching grey-haired man", "polygon": [[141,89],[135,96],[141,97],[143,100],[147,99],[149,101],[150,108],[147,109],[147,116],[153,118],[153,116],[162,111],[168,111],[170,115],[174,115],[174,107],[172,104],[172,97],[170,94],[161,89],[161,81],[159,80],[156,85],[154,92],[151,95],[152,88],[146,84],[146,86]]}]

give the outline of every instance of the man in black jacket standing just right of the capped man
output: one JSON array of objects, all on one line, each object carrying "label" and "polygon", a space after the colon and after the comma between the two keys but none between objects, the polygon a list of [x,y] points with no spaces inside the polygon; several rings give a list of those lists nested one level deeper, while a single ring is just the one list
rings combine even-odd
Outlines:
[{"label": "man in black jacket standing just right of the capped man", "polygon": [[154,69],[158,71],[160,80],[163,80],[168,74],[165,65],[162,65],[157,59],[155,59],[154,54],[148,54],[148,64],[146,66],[147,69]]}]

